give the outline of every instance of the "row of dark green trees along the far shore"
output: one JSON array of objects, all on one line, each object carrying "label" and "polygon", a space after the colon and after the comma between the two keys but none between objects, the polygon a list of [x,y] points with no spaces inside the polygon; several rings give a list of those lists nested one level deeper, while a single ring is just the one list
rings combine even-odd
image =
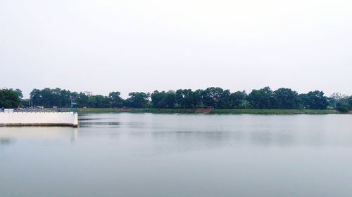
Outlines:
[{"label": "row of dark green trees along the far shore", "polygon": [[0,107],[42,106],[70,107],[132,107],[132,108],[213,108],[213,109],[337,109],[342,112],[352,109],[352,96],[334,93],[330,97],[320,90],[298,94],[290,88],[272,90],[270,87],[231,93],[222,88],[206,88],[204,90],[169,90],[153,93],[133,92],[127,99],[120,97],[115,91],[106,95],[71,92],[61,88],[34,89],[30,100],[22,99],[19,89],[0,90]]}]

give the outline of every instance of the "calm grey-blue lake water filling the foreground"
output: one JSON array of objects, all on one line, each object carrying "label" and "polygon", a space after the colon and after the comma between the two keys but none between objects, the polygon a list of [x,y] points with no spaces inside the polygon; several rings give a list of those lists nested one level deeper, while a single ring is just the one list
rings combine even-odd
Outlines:
[{"label": "calm grey-blue lake water filling the foreground", "polygon": [[0,196],[352,196],[352,116],[87,114],[79,128],[0,128]]}]

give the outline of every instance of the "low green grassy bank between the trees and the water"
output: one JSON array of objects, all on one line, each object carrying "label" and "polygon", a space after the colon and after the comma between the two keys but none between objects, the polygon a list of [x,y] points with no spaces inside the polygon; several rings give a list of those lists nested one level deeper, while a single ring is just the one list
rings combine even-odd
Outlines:
[{"label": "low green grassy bank between the trees and the water", "polygon": [[[59,109],[69,111],[69,109]],[[154,113],[154,114],[196,114],[196,109],[141,109],[141,108],[76,108],[78,113]],[[211,109],[206,114],[339,114],[335,110],[315,109]]]}]

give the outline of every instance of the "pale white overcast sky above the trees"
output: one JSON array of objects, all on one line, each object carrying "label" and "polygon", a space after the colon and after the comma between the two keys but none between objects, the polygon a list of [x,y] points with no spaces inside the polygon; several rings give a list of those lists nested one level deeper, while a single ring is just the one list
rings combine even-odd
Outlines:
[{"label": "pale white overcast sky above the trees", "polygon": [[352,1],[0,0],[0,88],[352,95]]}]

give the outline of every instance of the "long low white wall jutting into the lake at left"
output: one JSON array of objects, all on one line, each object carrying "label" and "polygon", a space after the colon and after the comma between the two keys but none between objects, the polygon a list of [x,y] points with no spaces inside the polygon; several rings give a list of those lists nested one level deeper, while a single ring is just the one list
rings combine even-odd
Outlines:
[{"label": "long low white wall jutting into the lake at left", "polygon": [[0,112],[0,126],[62,125],[78,126],[78,114],[73,112]]}]

